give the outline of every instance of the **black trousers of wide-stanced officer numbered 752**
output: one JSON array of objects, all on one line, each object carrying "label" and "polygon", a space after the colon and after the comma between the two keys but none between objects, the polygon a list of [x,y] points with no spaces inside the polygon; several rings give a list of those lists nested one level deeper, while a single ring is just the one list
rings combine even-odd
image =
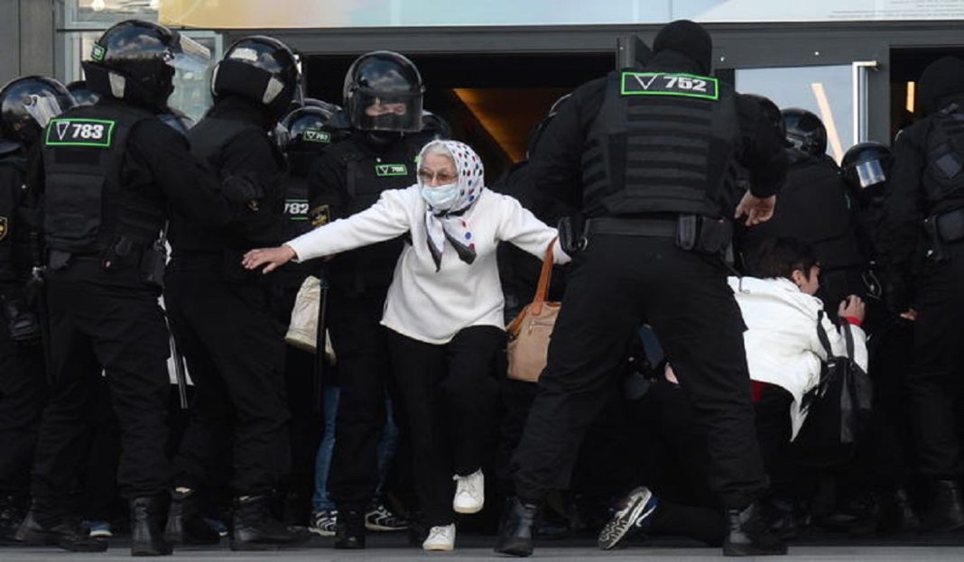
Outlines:
[{"label": "black trousers of wide-stanced officer numbered 752", "polygon": [[707,432],[710,488],[728,507],[767,487],[754,428],[744,329],[726,270],[669,238],[595,235],[576,254],[549,344],[549,364],[514,464],[516,491],[540,501],[569,483],[586,428],[620,381],[644,321]]}]

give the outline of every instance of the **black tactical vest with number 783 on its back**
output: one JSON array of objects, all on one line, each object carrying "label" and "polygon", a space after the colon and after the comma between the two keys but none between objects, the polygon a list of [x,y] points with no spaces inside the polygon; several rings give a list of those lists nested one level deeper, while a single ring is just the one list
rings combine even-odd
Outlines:
[{"label": "black tactical vest with number 783 on its back", "polygon": [[130,131],[153,114],[124,105],[68,110],[43,132],[47,248],[103,254],[120,237],[147,246],[165,221],[161,192],[135,193],[121,182]]}]

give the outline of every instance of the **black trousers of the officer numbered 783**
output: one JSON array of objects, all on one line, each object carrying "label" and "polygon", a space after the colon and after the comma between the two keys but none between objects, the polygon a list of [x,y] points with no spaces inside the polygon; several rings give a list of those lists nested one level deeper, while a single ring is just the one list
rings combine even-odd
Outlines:
[{"label": "black trousers of the officer numbered 783", "polygon": [[88,452],[88,408],[101,368],[120,420],[120,495],[168,490],[168,332],[159,291],[134,270],[105,272],[99,260],[73,259],[47,276],[50,372],[33,473],[40,517],[63,515],[67,491]]}]

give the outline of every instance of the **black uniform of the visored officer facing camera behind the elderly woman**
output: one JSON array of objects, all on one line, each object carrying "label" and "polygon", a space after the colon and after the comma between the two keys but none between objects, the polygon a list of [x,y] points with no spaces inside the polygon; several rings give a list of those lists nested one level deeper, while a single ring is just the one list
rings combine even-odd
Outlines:
[{"label": "black uniform of the visored officer facing camera behind the elderly woman", "polygon": [[[362,211],[387,189],[415,184],[415,156],[431,135],[385,144],[357,132],[325,152],[310,177],[309,218],[315,226]],[[388,133],[391,135],[391,133]],[[338,254],[327,265],[331,290],[328,325],[341,393],[335,451],[328,480],[338,511],[368,507],[379,482],[377,447],[386,421],[388,342],[382,312],[401,238]]]}]

